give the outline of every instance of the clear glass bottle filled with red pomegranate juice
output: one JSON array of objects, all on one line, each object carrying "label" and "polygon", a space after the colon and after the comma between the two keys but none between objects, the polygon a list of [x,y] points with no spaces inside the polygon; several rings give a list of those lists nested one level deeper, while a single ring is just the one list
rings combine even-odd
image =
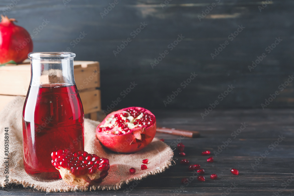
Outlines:
[{"label": "clear glass bottle filled with red pomegranate juice", "polygon": [[29,53],[31,82],[24,102],[24,169],[36,180],[60,179],[51,153],[84,150],[84,112],[74,81],[74,53]]}]

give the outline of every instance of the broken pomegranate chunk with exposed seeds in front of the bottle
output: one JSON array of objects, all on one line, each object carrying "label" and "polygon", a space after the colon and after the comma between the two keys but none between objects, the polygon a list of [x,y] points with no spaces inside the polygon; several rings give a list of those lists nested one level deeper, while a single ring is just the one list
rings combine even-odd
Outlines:
[{"label": "broken pomegranate chunk with exposed seeds in front of the bottle", "polygon": [[69,185],[98,185],[108,175],[109,160],[86,151],[71,153],[57,150],[51,153],[52,165],[59,170],[62,179]]}]

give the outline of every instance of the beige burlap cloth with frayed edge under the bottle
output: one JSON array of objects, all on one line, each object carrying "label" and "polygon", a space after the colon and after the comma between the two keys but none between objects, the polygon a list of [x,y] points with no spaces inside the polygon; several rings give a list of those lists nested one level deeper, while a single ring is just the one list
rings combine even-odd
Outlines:
[{"label": "beige burlap cloth with frayed edge under the bottle", "polygon": [[[157,138],[143,150],[133,154],[118,154],[101,146],[96,138],[97,121],[85,119],[85,151],[95,153],[109,159],[110,170],[108,176],[99,186],[89,188],[71,187],[63,180],[41,182],[33,180],[25,171],[23,164],[22,147],[22,108],[24,97],[17,96],[0,111],[0,182],[4,187],[4,157],[9,157],[9,183],[21,184],[24,187],[33,187],[46,192],[86,191],[86,190],[117,190],[123,184],[133,180],[141,180],[148,175],[155,175],[166,170],[171,165],[173,151]],[[4,155],[4,128],[9,128],[9,156]],[[141,170],[142,160],[148,158],[147,170]],[[136,173],[130,175],[129,169],[136,168]]]}]

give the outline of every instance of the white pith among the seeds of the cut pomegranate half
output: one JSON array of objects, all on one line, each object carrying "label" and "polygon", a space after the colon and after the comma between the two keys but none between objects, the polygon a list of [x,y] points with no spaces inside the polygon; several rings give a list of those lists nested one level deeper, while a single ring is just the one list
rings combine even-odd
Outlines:
[{"label": "white pith among the seeds of the cut pomegranate half", "polygon": [[[140,119],[143,117],[143,113],[141,113],[140,115],[138,115],[136,118],[134,118],[133,116],[131,116],[128,112],[123,111],[123,113],[127,113],[129,116],[128,117],[124,117],[122,114],[120,115],[121,119],[124,120],[124,124],[128,126],[129,129],[133,129],[133,128],[137,128],[137,127],[142,127],[142,125],[136,124],[134,125],[134,122],[137,119]],[[130,120],[130,122],[127,122],[126,119]],[[114,115],[109,116],[108,118],[106,118],[105,123],[103,125],[101,125],[100,127],[109,127],[109,128],[114,128],[114,125],[116,123],[116,118],[114,118]],[[107,130],[105,131],[105,133],[112,133],[112,134],[118,134],[119,132],[122,132],[123,134],[130,132],[130,130],[128,130],[127,132],[123,131],[121,129],[121,127],[117,127],[116,130]]]}]

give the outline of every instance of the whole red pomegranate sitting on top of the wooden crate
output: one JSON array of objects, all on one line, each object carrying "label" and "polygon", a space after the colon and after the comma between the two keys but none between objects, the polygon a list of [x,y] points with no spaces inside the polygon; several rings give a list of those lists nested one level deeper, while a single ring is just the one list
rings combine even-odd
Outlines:
[{"label": "whole red pomegranate sitting on top of the wooden crate", "polygon": [[15,19],[1,15],[0,64],[9,61],[21,63],[33,51],[33,41],[30,34],[23,27],[15,25],[13,21]]}]

